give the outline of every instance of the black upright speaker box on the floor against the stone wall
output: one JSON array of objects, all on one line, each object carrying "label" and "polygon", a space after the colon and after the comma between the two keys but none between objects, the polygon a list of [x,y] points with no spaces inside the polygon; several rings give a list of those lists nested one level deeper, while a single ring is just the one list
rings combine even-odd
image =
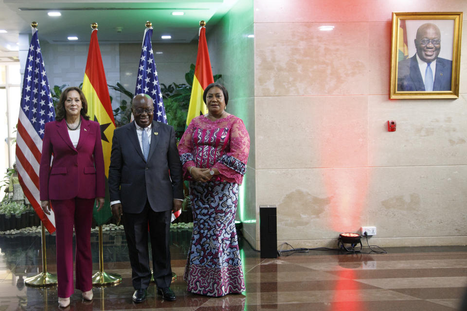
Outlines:
[{"label": "black upright speaker box on the floor against the stone wall", "polygon": [[277,258],[277,212],[275,205],[259,206],[261,258]]}]

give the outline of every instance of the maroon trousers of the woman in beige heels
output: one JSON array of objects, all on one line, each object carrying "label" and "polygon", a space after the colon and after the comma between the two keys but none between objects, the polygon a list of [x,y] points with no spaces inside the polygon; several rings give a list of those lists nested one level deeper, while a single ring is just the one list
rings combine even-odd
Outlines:
[{"label": "maroon trousers of the woman in beige heels", "polygon": [[73,292],[73,226],[76,236],[76,289],[92,288],[91,223],[94,199],[51,200],[55,214],[58,296]]}]

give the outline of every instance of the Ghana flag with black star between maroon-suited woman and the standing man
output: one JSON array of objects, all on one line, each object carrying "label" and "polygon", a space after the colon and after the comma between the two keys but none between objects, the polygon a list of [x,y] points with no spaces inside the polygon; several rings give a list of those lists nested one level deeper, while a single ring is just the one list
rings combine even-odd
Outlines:
[{"label": "Ghana flag with black star between maroon-suited woman and the standing man", "polygon": [[110,151],[112,149],[113,119],[112,105],[108,95],[106,73],[102,64],[101,50],[97,41],[97,28],[92,30],[89,44],[88,61],[84,73],[83,93],[88,101],[88,115],[90,119],[99,122],[101,126],[102,149],[104,152],[104,167],[106,172],[106,203],[100,211],[96,208],[92,213],[97,225],[103,225],[112,216],[108,197],[108,167],[110,165]]}]

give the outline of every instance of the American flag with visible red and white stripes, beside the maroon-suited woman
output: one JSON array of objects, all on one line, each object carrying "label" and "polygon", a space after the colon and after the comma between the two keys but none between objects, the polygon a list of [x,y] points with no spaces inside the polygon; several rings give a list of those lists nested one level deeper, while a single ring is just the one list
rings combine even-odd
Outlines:
[{"label": "American flag with visible red and white stripes, beside the maroon-suited woman", "polygon": [[39,163],[45,123],[54,120],[54,104],[42,61],[37,29],[33,28],[19,108],[16,166],[24,195],[50,233],[55,231],[54,212],[47,215],[40,207]]}]

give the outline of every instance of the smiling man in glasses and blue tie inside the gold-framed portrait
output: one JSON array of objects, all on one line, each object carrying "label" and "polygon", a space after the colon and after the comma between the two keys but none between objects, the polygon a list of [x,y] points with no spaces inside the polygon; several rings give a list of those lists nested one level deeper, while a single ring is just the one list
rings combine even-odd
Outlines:
[{"label": "smiling man in glasses and blue tie inside the gold-framed portrait", "polygon": [[[441,34],[435,24],[426,23],[417,30],[417,52],[398,63],[398,91],[450,91],[452,61],[438,57]],[[433,75],[434,73],[434,75]]]}]

